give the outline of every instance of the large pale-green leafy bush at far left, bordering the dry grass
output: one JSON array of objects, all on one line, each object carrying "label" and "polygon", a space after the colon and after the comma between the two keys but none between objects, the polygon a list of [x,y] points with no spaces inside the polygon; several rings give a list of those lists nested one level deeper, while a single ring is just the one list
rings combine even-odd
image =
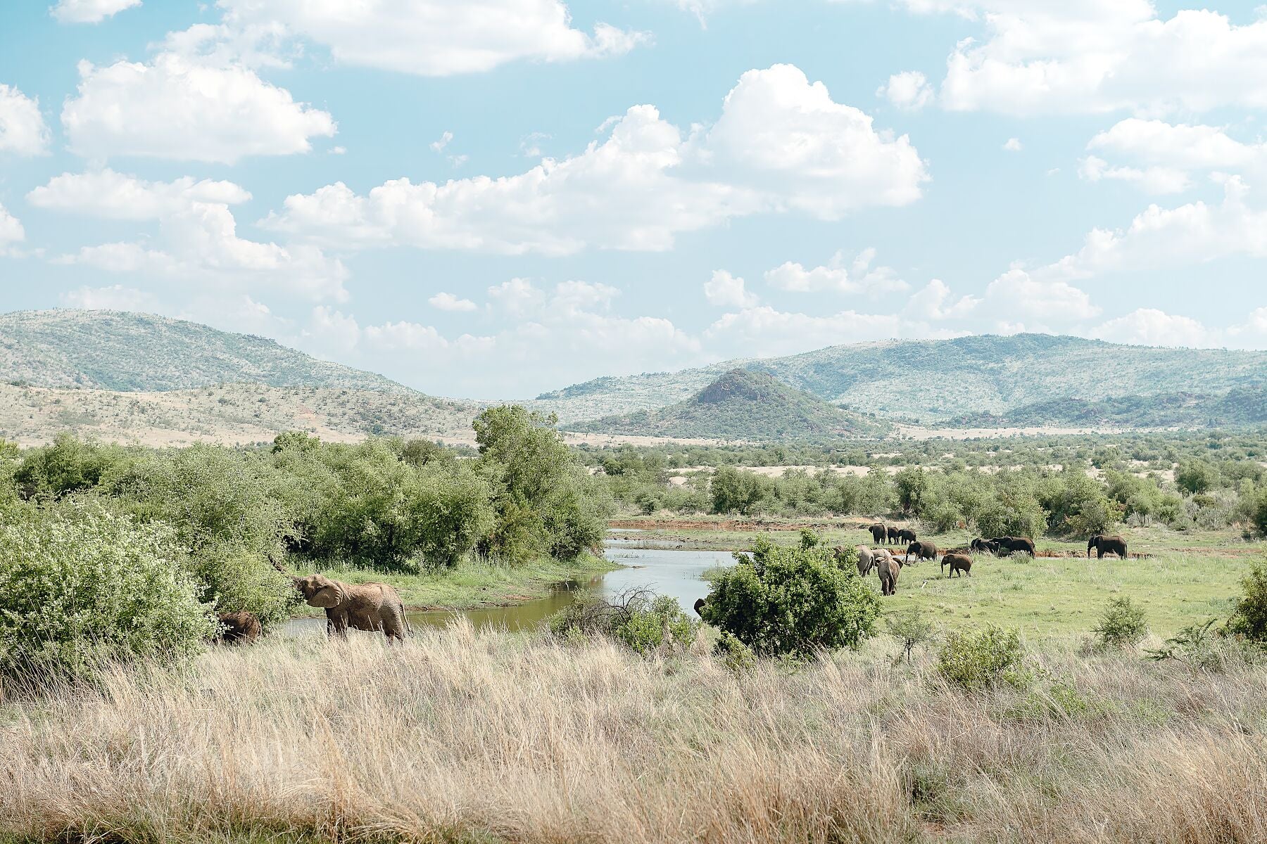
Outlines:
[{"label": "large pale-green leafy bush at far left, bordering the dry grass", "polygon": [[198,653],[215,625],[180,562],[166,526],[96,506],[0,526],[0,671],[90,677]]}]

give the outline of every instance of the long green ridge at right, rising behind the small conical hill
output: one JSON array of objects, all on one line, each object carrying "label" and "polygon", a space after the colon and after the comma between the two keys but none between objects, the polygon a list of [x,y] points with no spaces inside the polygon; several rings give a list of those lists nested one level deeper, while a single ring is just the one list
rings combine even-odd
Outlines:
[{"label": "long green ridge at right, rising behind the small conical hill", "polygon": [[1047,334],[887,340],[834,345],[783,358],[740,359],[674,373],[598,378],[538,396],[564,421],[655,410],[684,401],[732,368],[767,372],[831,404],[922,424],[969,415],[1006,416],[1045,404],[1088,406],[1116,396],[1199,392],[1223,396],[1261,387],[1267,352],[1119,345]]}]

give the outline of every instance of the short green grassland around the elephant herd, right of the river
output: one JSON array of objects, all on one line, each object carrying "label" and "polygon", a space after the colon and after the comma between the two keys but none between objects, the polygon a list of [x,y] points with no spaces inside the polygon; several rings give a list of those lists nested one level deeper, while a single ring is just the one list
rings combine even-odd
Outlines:
[{"label": "short green grassland around the elephant herd, right of the river", "polygon": [[[791,545],[799,542],[801,526],[813,528],[832,545],[873,544],[870,534],[862,529],[869,523],[856,519],[751,523],[703,518],[618,524],[641,525],[636,533],[620,535],[649,545],[741,550],[750,548],[758,535]],[[1267,554],[1267,543],[1245,542],[1230,530],[1180,533],[1140,528],[1123,534],[1133,554],[1148,557],[1087,559],[1085,542],[1040,538],[1040,554],[1060,555],[1036,559],[977,555],[972,577],[954,578],[948,577],[949,569],[944,573],[926,561],[906,566],[897,595],[886,599],[886,605],[920,607],[948,628],[993,623],[1019,628],[1031,638],[1067,639],[1088,630],[1110,597],[1125,595],[1144,607],[1153,630],[1172,635],[1190,624],[1225,617],[1252,562]],[[962,530],[927,537],[921,531],[921,537],[941,549],[971,542]],[[901,545],[889,548],[902,550]]]}]

